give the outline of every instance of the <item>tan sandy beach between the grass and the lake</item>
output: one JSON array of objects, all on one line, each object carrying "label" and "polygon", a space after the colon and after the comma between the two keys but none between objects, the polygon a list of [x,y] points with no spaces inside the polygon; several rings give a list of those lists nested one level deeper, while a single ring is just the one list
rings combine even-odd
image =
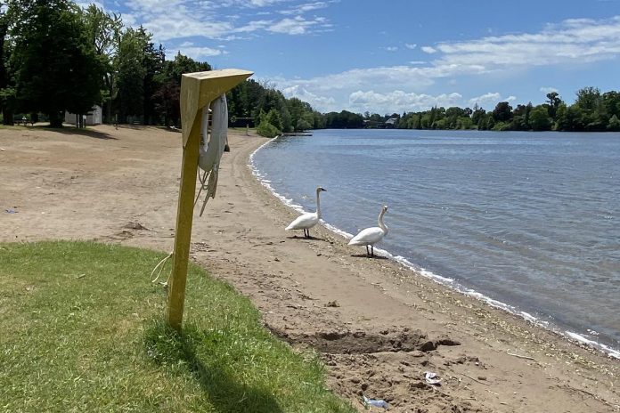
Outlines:
[{"label": "tan sandy beach between the grass and the lake", "polygon": [[[195,211],[192,260],[249,296],[274,335],[320,352],[330,387],[356,408],[365,395],[395,412],[620,411],[620,360],[368,259],[324,228],[284,231],[297,213],[248,166],[266,139],[231,130],[229,142],[217,196]],[[0,129],[0,240],[169,252],[181,153],[181,134],[155,127]]]}]

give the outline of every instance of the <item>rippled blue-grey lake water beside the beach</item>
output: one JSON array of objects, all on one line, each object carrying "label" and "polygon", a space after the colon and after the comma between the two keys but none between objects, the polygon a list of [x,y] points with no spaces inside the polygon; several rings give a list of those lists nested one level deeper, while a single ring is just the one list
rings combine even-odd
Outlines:
[{"label": "rippled blue-grey lake water beside the beach", "polygon": [[[320,130],[252,158],[292,206],[620,358],[620,134]],[[352,247],[362,254],[363,247]]]}]

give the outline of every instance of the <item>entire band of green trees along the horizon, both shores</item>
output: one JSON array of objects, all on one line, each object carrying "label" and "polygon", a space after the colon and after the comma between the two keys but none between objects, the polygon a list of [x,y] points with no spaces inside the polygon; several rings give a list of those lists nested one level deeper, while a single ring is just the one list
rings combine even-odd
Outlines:
[{"label": "entire band of green trees along the horizon, both shores", "polygon": [[[0,109],[4,125],[15,119],[49,121],[60,127],[65,110],[78,115],[94,105],[105,123],[182,126],[181,75],[210,70],[206,61],[181,53],[166,60],[143,27],[126,27],[121,16],[95,4],[70,0],[0,1]],[[251,69],[249,63],[247,69]],[[298,98],[285,98],[252,79],[228,93],[232,126],[257,126],[274,136],[321,128],[396,127],[480,130],[620,130],[620,94],[586,87],[567,105],[558,93],[533,106],[507,101],[493,111],[475,106],[432,108],[402,115],[320,113]]]}]

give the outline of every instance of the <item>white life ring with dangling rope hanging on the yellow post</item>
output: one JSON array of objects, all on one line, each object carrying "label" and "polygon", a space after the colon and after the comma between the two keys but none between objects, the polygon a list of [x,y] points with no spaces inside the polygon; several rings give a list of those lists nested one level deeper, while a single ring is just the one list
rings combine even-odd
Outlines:
[{"label": "white life ring with dangling rope hanging on the yellow post", "polygon": [[[208,126],[208,110],[211,107],[211,126]],[[226,104],[225,93],[212,101],[210,105],[202,109],[202,139],[200,142],[200,152],[198,158],[198,166],[203,173],[199,179],[202,184],[201,190],[206,190],[207,195],[200,209],[200,215],[205,210],[208,198],[216,197],[217,175],[219,173],[219,164],[226,142],[228,141],[228,106]],[[208,182],[207,182],[208,177]],[[200,191],[198,197],[200,197]]]}]

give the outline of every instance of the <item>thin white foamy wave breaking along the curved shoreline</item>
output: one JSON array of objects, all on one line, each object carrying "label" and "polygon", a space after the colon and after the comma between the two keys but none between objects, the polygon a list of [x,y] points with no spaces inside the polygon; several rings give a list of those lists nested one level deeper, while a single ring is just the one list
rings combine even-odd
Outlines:
[{"label": "thin white foamy wave breaking along the curved shoreline", "polygon": [[[257,148],[257,150],[254,150],[254,152],[251,153],[251,155],[249,156],[249,167],[252,171],[252,174],[254,176],[257,177],[258,182],[260,182],[266,189],[270,190],[273,193],[273,196],[275,196],[276,198],[280,199],[281,202],[286,205],[287,207],[292,207],[293,209],[295,209],[296,211],[298,211],[299,213],[306,213],[307,211],[304,210],[304,208],[298,204],[295,204],[293,202],[293,199],[290,198],[286,198],[284,196],[282,196],[280,193],[278,193],[273,186],[271,185],[272,181],[265,179],[265,174],[261,173],[257,166],[254,163],[254,156],[257,154],[257,152],[261,149],[263,149],[266,145],[270,144],[271,142],[273,142],[274,140],[278,139],[278,136],[276,136],[275,138],[263,143],[261,146],[259,146]],[[338,227],[331,225],[330,223],[326,223],[325,221],[321,220],[321,224],[323,227],[325,227],[326,229],[328,229],[329,231],[332,231],[346,239],[352,239],[353,238],[353,234],[348,233],[347,231],[342,231],[340,230]],[[534,326],[540,327],[540,328],[546,328],[549,329],[557,334],[559,334],[560,336],[565,336],[567,338],[571,338],[574,339],[575,341],[581,343],[581,344],[585,344],[587,346],[590,346],[591,348],[597,349],[601,352],[604,352],[606,354],[608,354],[608,356],[613,357],[615,359],[620,360],[620,351],[606,345],[606,344],[602,344],[599,343],[597,341],[591,340],[586,338],[583,335],[580,335],[578,333],[574,333],[572,331],[561,331],[558,328],[553,328],[549,321],[545,321],[545,320],[540,320],[539,318],[535,317],[534,315],[528,313],[528,312],[524,312],[524,311],[520,311],[518,310],[517,307],[510,305],[510,304],[506,304],[506,303],[502,303],[501,301],[498,300],[494,300],[493,298],[489,297],[489,296],[485,296],[482,293],[477,292],[476,290],[472,289],[472,288],[468,288],[468,287],[464,287],[461,286],[461,284],[459,284],[458,282],[456,282],[454,279],[448,278],[448,277],[444,277],[441,276],[439,274],[436,274],[432,271],[428,271],[424,268],[421,268],[413,263],[411,263],[409,260],[407,260],[406,258],[404,258],[404,256],[402,255],[393,255],[391,254],[389,251],[382,249],[382,248],[374,248],[375,254],[377,255],[381,255],[381,256],[385,256],[388,259],[394,260],[397,263],[401,263],[402,265],[404,265],[405,268],[414,271],[417,274],[420,274],[422,277],[427,278],[427,279],[432,279],[433,281],[435,281],[436,283],[445,286],[445,287],[450,287],[453,290],[464,294],[465,296],[471,296],[473,298],[476,298],[477,300],[488,304],[494,308],[500,309],[502,311],[505,312],[509,312],[510,314],[514,314],[517,315],[518,317],[522,318],[523,320],[526,320],[530,323],[532,323]]]}]

